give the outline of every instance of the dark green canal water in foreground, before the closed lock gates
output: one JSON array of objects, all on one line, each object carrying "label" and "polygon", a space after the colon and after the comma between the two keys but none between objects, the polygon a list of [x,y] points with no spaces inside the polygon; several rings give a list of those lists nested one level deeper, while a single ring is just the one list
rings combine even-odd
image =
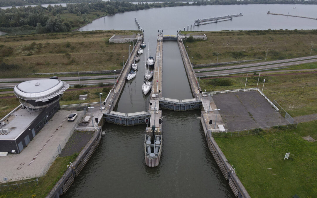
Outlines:
[{"label": "dark green canal water in foreground, before the closed lock gates", "polygon": [[145,125],[106,124],[106,135],[62,197],[234,197],[214,161],[200,111],[163,111],[159,166],[144,161]]}]

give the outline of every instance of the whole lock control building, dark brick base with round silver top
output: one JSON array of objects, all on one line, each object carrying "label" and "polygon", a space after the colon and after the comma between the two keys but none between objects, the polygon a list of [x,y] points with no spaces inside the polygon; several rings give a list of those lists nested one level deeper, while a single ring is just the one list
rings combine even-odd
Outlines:
[{"label": "whole lock control building, dark brick base with round silver top", "polygon": [[41,79],[14,87],[21,105],[0,120],[0,151],[20,153],[59,110],[66,82]]}]

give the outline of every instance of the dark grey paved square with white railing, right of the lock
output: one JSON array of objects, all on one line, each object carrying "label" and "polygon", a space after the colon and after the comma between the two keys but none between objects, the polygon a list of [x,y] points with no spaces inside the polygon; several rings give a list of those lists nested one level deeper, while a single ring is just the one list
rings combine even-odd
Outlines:
[{"label": "dark grey paved square with white railing, right of the lock", "polygon": [[220,93],[212,98],[229,131],[288,124],[258,91]]}]

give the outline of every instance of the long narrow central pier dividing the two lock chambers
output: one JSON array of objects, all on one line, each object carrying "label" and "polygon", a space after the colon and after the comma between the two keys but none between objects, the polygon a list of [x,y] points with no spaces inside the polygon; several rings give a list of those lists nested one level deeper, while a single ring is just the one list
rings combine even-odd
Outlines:
[{"label": "long narrow central pier dividing the two lock chambers", "polygon": [[149,126],[146,127],[146,138],[148,136],[152,137],[152,140],[156,140],[156,136],[160,137],[160,146],[159,152],[151,153],[147,152],[146,149],[146,139],[144,142],[144,155],[145,163],[148,167],[156,167],[159,165],[159,160],[162,154],[162,111],[159,110],[159,98],[162,96],[162,71],[163,71],[163,35],[162,33],[158,34],[157,46],[156,46],[156,55],[155,63],[153,70],[153,79],[152,79],[152,91],[149,104],[149,111],[151,112],[151,119],[149,120]]}]

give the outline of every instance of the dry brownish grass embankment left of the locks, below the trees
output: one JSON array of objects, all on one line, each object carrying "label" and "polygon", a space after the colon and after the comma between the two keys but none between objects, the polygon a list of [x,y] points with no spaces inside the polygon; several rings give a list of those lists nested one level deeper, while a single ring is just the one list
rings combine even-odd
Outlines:
[{"label": "dry brownish grass embankment left of the locks, below the trees", "polygon": [[[0,37],[0,78],[23,73],[120,69],[130,43],[109,43],[114,34],[136,31],[90,31]],[[132,50],[132,49],[131,49]]]}]

